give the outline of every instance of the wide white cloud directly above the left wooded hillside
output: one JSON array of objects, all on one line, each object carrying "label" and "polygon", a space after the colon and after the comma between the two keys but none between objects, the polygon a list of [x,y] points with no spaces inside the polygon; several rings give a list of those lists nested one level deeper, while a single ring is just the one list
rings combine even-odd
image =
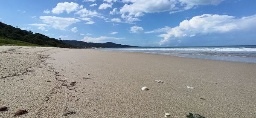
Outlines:
[{"label": "wide white cloud directly above the left wooded hillside", "polygon": [[55,16],[40,16],[44,23],[49,24],[55,29],[65,30],[66,27],[80,20],[73,17],[55,17]]}]

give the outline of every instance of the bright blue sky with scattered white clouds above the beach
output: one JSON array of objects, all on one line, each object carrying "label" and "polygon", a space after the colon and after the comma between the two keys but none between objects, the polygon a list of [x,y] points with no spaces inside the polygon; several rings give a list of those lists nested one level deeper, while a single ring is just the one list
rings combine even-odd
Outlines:
[{"label": "bright blue sky with scattered white clouds above the beach", "polygon": [[0,0],[0,21],[61,40],[256,45],[256,0]]}]

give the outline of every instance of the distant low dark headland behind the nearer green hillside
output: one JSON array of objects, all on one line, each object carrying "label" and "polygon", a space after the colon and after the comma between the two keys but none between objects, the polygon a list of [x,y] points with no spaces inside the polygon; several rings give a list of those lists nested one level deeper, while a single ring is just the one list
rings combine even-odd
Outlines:
[{"label": "distant low dark headland behind the nearer green hillside", "polygon": [[131,48],[131,47],[138,47],[138,46],[128,46],[128,45],[121,45],[112,42],[107,43],[87,43],[84,41],[77,41],[77,40],[62,40],[64,43],[68,43],[72,46],[80,47],[80,48]]}]

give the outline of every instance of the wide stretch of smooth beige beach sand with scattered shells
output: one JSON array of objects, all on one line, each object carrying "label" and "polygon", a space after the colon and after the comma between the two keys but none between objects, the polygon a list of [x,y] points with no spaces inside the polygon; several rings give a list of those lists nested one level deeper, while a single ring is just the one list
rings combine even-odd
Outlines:
[{"label": "wide stretch of smooth beige beach sand with scattered shells", "polygon": [[0,84],[0,118],[256,117],[254,63],[0,46]]}]

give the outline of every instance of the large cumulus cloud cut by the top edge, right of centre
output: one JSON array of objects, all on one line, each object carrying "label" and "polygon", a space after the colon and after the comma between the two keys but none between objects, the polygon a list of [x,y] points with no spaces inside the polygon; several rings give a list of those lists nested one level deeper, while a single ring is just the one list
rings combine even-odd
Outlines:
[{"label": "large cumulus cloud cut by the top edge, right of centre", "polygon": [[218,5],[224,0],[122,0],[119,13],[126,23],[139,21],[144,13],[169,12],[170,14],[195,8],[199,5]]}]

